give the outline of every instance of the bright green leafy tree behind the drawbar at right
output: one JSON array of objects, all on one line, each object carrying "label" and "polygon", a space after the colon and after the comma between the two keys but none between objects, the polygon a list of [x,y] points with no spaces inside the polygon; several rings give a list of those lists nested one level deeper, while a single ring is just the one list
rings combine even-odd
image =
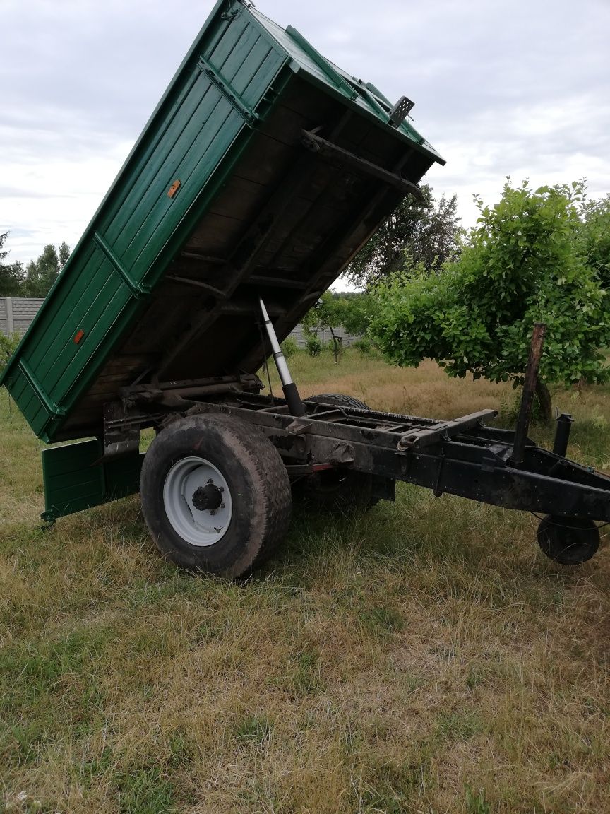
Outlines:
[{"label": "bright green leafy tree behind the drawbar at right", "polygon": [[610,339],[608,295],[581,239],[582,182],[531,190],[510,179],[480,217],[460,259],[429,275],[420,265],[378,285],[370,326],[386,357],[431,357],[450,376],[523,382],[534,322],[547,324],[538,400],[551,416],[547,383],[607,378],[599,348]]}]

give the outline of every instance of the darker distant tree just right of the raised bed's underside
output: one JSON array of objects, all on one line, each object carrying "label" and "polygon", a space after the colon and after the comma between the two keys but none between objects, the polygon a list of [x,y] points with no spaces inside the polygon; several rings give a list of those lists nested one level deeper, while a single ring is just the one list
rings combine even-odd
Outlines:
[{"label": "darker distant tree just right of the raised bed's underside", "polygon": [[405,255],[433,269],[460,253],[463,230],[457,215],[457,196],[438,201],[432,190],[421,186],[422,201],[407,196],[381,225],[347,268],[359,287],[368,286],[403,269]]}]

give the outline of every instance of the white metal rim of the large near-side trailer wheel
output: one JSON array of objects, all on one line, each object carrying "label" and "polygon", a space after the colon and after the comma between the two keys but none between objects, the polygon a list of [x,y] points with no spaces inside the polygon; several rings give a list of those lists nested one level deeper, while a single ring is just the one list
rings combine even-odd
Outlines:
[{"label": "white metal rim of the large near-side trailer wheel", "polygon": [[[198,509],[194,501],[201,503],[203,488],[213,498],[212,505],[220,500],[220,505],[211,509]],[[231,492],[220,470],[202,457],[185,457],[177,461],[168,471],[163,484],[163,506],[173,530],[190,545],[214,545],[224,537],[231,517],[233,504]]]}]

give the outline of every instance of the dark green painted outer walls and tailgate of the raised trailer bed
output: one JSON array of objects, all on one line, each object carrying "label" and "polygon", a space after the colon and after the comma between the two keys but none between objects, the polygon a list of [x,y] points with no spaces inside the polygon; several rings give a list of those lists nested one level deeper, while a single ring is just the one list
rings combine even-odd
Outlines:
[{"label": "dark green painted outer walls and tailgate of the raised trailer bed", "polygon": [[[408,122],[388,125],[390,103],[373,85],[329,63],[294,28],[219,0],[0,379],[43,440],[72,437],[61,435],[63,424],[295,75],[428,163],[444,163]],[[101,454],[98,441],[43,453],[49,518],[137,491],[140,457],[102,466]]]}]

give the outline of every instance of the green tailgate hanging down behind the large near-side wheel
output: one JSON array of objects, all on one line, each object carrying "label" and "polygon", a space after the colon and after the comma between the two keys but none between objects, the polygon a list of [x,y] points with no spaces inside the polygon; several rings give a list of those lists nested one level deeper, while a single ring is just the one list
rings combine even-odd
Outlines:
[{"label": "green tailgate hanging down behind the large near-side wheel", "polygon": [[102,451],[97,439],[42,450],[46,520],[139,492],[144,455],[96,463]]}]

